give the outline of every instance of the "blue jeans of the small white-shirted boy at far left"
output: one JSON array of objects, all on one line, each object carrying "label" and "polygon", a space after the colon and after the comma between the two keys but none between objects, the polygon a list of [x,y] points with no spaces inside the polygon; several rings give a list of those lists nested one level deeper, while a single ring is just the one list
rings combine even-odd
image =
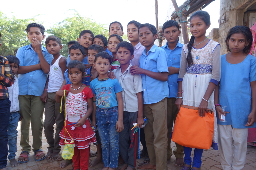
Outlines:
[{"label": "blue jeans of the small white-shirted boy at far left", "polygon": [[16,130],[18,127],[20,119],[20,113],[19,112],[13,112],[10,114],[9,119],[9,125],[7,128],[7,135],[8,135],[8,152],[10,153],[8,155],[8,159],[15,159],[15,152],[17,152],[17,137],[18,137],[18,131]]}]

